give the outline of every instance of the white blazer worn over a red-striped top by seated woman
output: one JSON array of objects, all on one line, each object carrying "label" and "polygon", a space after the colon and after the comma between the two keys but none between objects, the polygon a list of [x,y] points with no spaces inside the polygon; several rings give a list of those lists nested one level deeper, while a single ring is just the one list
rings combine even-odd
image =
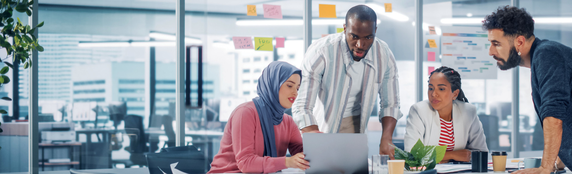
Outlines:
[{"label": "white blazer worn over a red-striped top by seated woman", "polygon": [[[475,105],[468,102],[453,101],[453,132],[455,148],[453,151],[468,149],[470,151],[488,151],[484,137],[483,125],[476,116]],[[424,145],[439,145],[441,121],[439,113],[433,109],[429,100],[420,101],[411,106],[407,117],[405,133],[405,150],[411,151],[417,140]]]}]

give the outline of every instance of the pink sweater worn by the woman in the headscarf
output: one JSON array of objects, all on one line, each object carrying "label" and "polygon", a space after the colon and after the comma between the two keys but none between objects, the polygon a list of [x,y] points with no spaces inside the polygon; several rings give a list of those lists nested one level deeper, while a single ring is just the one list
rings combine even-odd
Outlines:
[{"label": "pink sweater worn by the woman in the headscarf", "polygon": [[224,128],[220,150],[208,173],[273,173],[286,169],[286,151],[296,155],[303,151],[302,136],[292,116],[284,114],[274,126],[279,157],[264,156],[264,139],[254,102],[239,105]]}]

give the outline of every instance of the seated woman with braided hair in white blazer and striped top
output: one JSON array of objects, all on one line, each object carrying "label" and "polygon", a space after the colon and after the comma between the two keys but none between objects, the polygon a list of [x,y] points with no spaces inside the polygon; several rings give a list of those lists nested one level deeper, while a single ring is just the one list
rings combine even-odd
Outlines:
[{"label": "seated woman with braided hair in white blazer and striped top", "polygon": [[411,106],[407,117],[405,150],[420,139],[424,145],[447,145],[442,163],[470,161],[472,151],[488,151],[476,108],[461,90],[460,74],[442,66],[431,72],[429,100]]}]

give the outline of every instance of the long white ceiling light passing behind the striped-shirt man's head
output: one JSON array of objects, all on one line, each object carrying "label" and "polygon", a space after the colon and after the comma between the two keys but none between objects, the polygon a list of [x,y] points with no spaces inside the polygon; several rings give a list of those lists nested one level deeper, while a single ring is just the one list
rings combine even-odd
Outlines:
[{"label": "long white ceiling light passing behind the striped-shirt man's head", "polygon": [[[382,22],[378,19],[378,23]],[[312,25],[343,25],[345,19],[312,19]],[[237,26],[280,26],[280,25],[304,25],[302,19],[262,19],[262,20],[237,20]]]}]

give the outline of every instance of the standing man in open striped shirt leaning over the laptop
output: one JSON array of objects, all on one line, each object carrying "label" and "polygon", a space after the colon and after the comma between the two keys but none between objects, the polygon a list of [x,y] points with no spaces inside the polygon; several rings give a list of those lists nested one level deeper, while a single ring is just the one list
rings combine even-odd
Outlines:
[{"label": "standing man in open striped shirt leaning over the laptop", "polygon": [[[379,93],[383,125],[379,153],[393,158],[389,144],[395,124],[403,116],[398,74],[393,53],[386,42],[375,37],[376,29],[375,11],[358,5],[345,15],[344,32],[309,46],[292,115],[302,132],[364,133]],[[316,102],[324,106],[317,110],[321,114],[313,113]]]}]

